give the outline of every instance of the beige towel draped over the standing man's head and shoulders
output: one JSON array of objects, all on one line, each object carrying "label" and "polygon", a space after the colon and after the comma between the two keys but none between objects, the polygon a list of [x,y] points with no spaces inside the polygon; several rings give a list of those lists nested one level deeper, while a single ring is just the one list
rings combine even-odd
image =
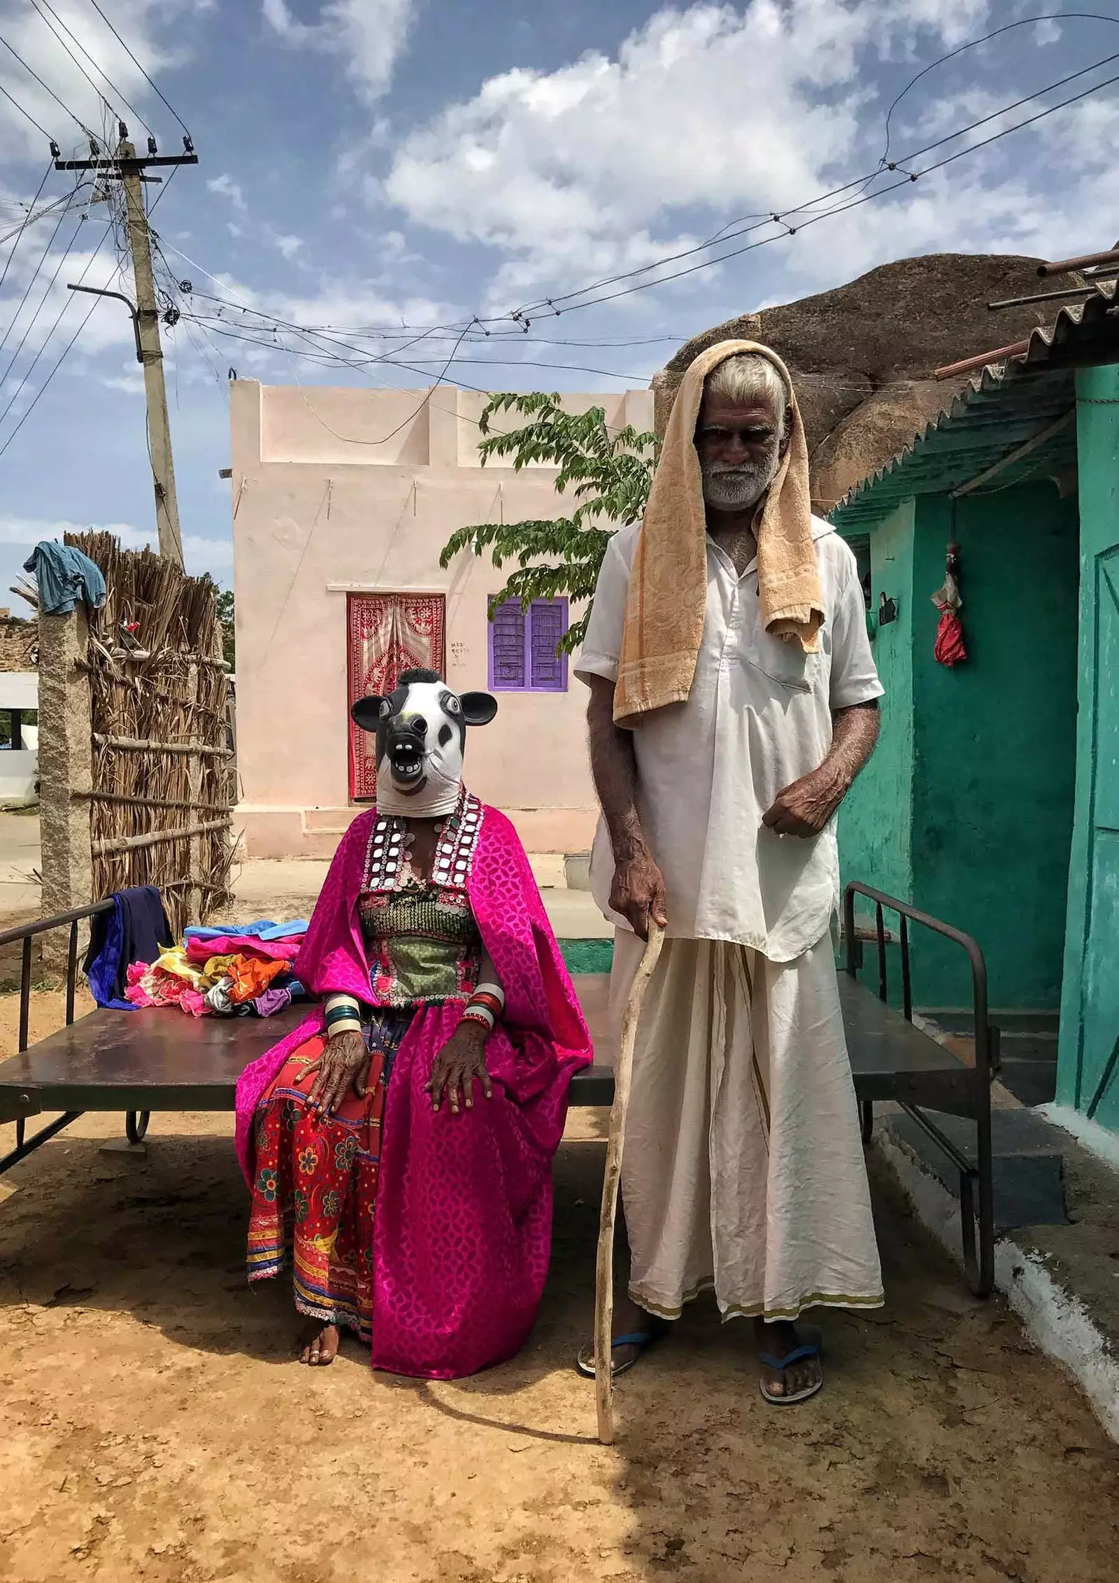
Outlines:
[{"label": "beige towel draped over the standing man's head and shoulders", "polygon": [[[793,389],[777,353],[757,340],[720,340],[688,366],[668,419],[630,571],[614,690],[619,725],[630,727],[668,703],[684,703],[692,689],[707,608],[707,521],[695,424],[704,378],[742,351],[768,358]],[[791,400],[790,445],[755,524],[758,598],[766,632],[815,654],[825,609],[812,546],[809,450],[796,397]]]}]

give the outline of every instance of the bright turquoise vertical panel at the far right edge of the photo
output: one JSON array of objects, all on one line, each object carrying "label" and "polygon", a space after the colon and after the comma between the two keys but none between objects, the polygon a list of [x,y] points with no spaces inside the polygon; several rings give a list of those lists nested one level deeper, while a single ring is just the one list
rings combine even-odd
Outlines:
[{"label": "bright turquoise vertical panel at the far right edge of the photo", "polygon": [[1076,822],[1057,1099],[1119,1130],[1119,367],[1076,375]]}]

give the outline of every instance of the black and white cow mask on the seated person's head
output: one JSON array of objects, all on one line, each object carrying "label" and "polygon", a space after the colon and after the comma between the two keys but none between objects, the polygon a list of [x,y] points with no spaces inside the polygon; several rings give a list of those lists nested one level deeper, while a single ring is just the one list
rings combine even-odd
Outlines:
[{"label": "black and white cow mask on the seated person's head", "polygon": [[397,818],[453,814],[462,790],[468,725],[497,714],[489,693],[453,693],[435,671],[404,671],[381,698],[361,698],[350,716],[377,736],[377,809]]}]

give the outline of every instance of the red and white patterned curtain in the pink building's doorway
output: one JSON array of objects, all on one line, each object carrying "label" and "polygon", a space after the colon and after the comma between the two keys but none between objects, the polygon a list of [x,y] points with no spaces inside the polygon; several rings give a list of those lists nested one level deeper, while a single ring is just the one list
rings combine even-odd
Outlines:
[{"label": "red and white patterned curtain in the pink building's doorway", "polygon": [[[443,674],[446,606],[442,594],[350,594],[347,652],[350,703],[391,693],[413,666]],[[350,722],[350,796],[377,796],[377,741]]]}]

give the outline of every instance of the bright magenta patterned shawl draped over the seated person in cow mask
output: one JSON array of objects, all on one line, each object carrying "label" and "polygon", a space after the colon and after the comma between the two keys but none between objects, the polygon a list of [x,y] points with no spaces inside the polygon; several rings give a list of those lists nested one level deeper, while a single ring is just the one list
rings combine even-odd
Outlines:
[{"label": "bright magenta patterned shawl draped over the seated person in cow mask", "polygon": [[[317,996],[370,1002],[358,918],[375,810],[334,856],[296,974]],[[381,1140],[374,1235],[374,1368],[457,1379],[513,1357],[537,1319],[551,1254],[551,1162],[571,1076],[590,1062],[575,986],[513,825],[484,809],[467,882],[483,943],[505,988],[486,1045],[494,1097],[453,1116],[424,1094],[461,1007],[426,1007],[396,1057]],[[245,1067],[237,1156],[253,1179],[252,1122],[288,1056],[323,1026],[321,1007]]]}]

